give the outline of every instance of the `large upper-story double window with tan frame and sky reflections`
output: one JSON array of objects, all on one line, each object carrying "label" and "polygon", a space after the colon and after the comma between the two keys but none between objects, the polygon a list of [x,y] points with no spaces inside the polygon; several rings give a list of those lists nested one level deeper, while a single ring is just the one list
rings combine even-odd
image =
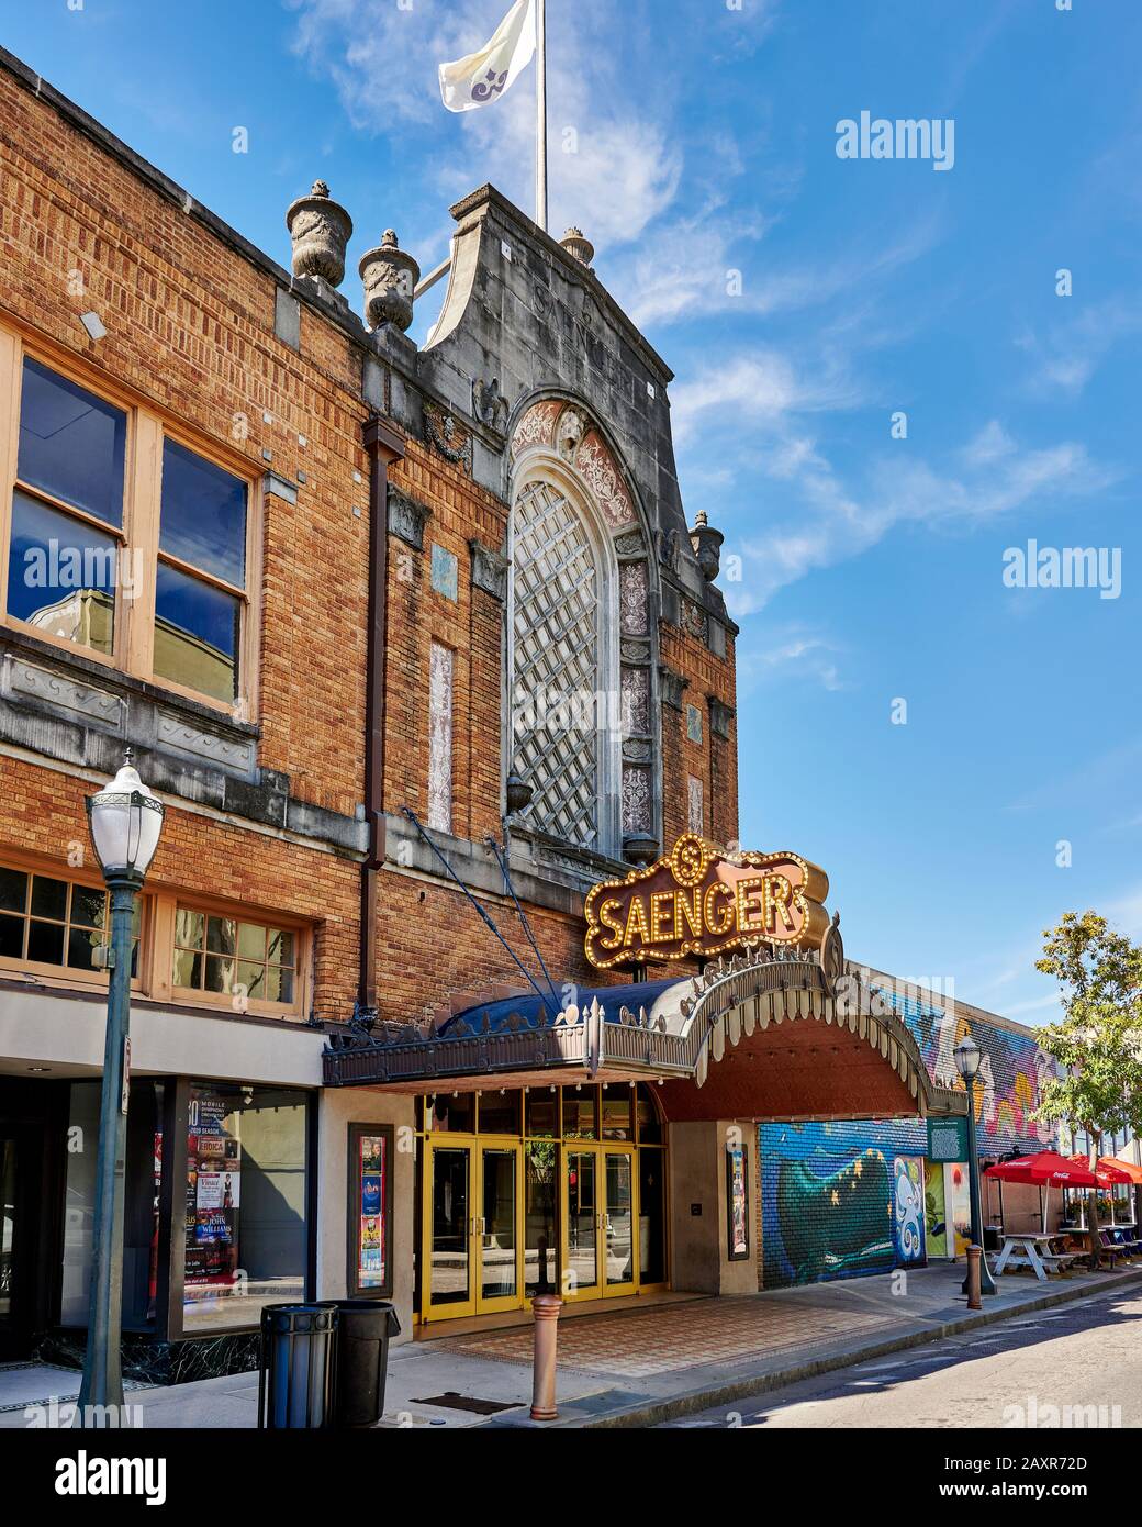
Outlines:
[{"label": "large upper-story double window with tan frame and sky reflections", "polygon": [[0,331],[8,385],[18,443],[0,501],[5,621],[247,715],[250,479]]}]

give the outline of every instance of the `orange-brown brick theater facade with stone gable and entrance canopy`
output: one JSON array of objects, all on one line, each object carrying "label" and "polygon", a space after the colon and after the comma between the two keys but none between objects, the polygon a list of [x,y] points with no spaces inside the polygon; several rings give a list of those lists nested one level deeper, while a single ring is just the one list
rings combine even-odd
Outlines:
[{"label": "orange-brown brick theater facade with stone gable and entrance canopy", "polygon": [[[0,121],[0,1356],[82,1347],[107,989],[84,797],[128,745],[165,806],[133,1371],[249,1364],[263,1306],[301,1296],[391,1296],[408,1335],[548,1286],[757,1287],[730,1186],[756,1193],[756,1130],[737,1179],[722,1157],[783,1115],[721,1086],[724,1046],[768,1043],[779,1000],[776,1025],[832,1023],[843,951],[585,956],[591,886],[737,837],[721,536],[682,510],[670,373],[591,246],[476,191],[418,347],[395,235],[365,321],[339,292],[324,183],[286,270],[5,53]],[[890,1012],[846,1043],[808,1107],[954,1110]]]}]

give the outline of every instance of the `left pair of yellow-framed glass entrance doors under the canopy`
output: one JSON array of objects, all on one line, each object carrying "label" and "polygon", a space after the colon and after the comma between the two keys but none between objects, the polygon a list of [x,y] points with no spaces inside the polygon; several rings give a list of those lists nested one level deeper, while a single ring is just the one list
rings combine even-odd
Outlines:
[{"label": "left pair of yellow-framed glass entrance doors under the canopy", "polygon": [[427,1139],[421,1208],[421,1319],[524,1304],[519,1141]]}]

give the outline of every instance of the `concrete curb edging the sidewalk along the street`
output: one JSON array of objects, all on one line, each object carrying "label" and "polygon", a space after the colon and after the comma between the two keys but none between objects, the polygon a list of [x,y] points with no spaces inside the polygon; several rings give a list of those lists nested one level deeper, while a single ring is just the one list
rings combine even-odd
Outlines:
[{"label": "concrete curb edging the sidewalk along the street", "polygon": [[[727,1383],[708,1385],[699,1390],[684,1390],[679,1394],[664,1396],[663,1399],[640,1400],[638,1405],[621,1406],[614,1411],[606,1411],[602,1416],[568,1416],[566,1419],[556,1422],[540,1422],[534,1425],[537,1431],[559,1431],[560,1428],[583,1431],[600,1428],[618,1429],[623,1426],[655,1426],[658,1422],[678,1420],[682,1416],[693,1416],[696,1411],[705,1411],[716,1405],[730,1405],[734,1400],[744,1400],[754,1394],[766,1394],[769,1390],[782,1390],[789,1383],[800,1383],[803,1379],[814,1379],[821,1373],[834,1373],[837,1368],[852,1368],[855,1364],[866,1362],[869,1358],[881,1358],[887,1353],[905,1351],[910,1347],[924,1347],[944,1336],[959,1336],[963,1332],[976,1330],[979,1325],[997,1325],[1002,1321],[1014,1319],[1017,1315],[1029,1315],[1032,1310],[1046,1310],[1055,1304],[1070,1304],[1078,1299],[1098,1298],[1110,1289],[1127,1287],[1128,1284],[1139,1281],[1142,1281],[1142,1267],[1137,1267],[1130,1274],[1121,1274],[1113,1283],[1107,1283],[1098,1289],[1092,1289],[1090,1286],[1084,1289],[1058,1289],[1050,1293],[1043,1293],[1035,1299],[1029,1299],[1017,1309],[985,1310],[974,1318],[965,1315],[962,1319],[945,1321],[942,1325],[928,1325],[921,1330],[908,1332],[904,1336],[892,1336],[886,1341],[870,1342],[867,1347],[860,1347],[853,1351],[831,1353],[826,1358],[795,1362],[786,1368],[774,1370],[773,1373],[757,1373],[742,1379],[733,1379]],[[569,1400],[568,1409],[573,1408],[574,1400]]]}]

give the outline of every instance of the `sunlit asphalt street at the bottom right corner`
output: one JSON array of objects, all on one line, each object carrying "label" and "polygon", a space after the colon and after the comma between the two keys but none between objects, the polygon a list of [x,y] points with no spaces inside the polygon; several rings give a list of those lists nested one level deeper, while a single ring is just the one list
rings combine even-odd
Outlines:
[{"label": "sunlit asphalt street at the bottom right corner", "polygon": [[1142,1425],[1142,1292],[1037,1310],[670,1426]]}]

